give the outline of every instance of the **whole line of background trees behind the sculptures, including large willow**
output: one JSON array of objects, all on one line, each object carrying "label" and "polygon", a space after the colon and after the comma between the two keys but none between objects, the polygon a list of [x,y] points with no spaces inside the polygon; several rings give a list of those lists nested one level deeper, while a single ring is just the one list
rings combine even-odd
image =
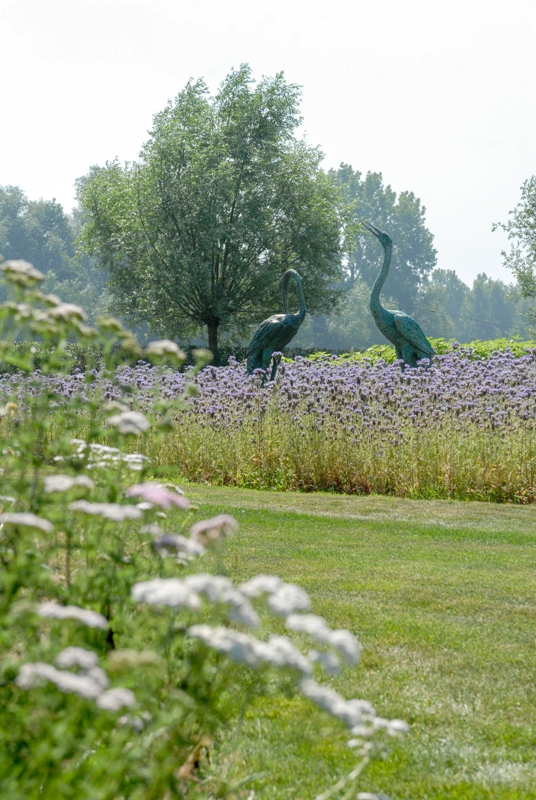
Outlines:
[{"label": "whole line of background trees behind the sculptures, including large willow", "polygon": [[110,311],[145,336],[208,339],[213,350],[247,342],[254,325],[283,310],[278,279],[292,266],[309,310],[293,344],[362,349],[385,341],[368,309],[381,263],[360,227],[369,219],[394,243],[387,307],[411,314],[428,336],[528,338],[536,180],[502,226],[519,283],[482,272],[470,287],[437,268],[413,192],[397,195],[381,173],[347,164],[321,169],[322,153],[296,137],[299,101],[282,74],[255,84],[247,65],[214,97],[190,81],[155,115],[138,162],[108,162],[78,179],[71,214],[0,186],[0,253],[34,263],[46,290],[91,318]]}]

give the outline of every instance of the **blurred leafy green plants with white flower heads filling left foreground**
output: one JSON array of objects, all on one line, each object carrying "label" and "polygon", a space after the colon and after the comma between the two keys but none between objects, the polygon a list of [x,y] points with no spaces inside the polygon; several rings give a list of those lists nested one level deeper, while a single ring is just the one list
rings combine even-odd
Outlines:
[{"label": "blurred leafy green plants with white flower heads filling left foreground", "polygon": [[[199,519],[179,486],[151,479],[169,441],[197,435],[192,419],[227,436],[240,425],[236,406],[214,405],[206,352],[178,373],[172,342],[142,351],[117,320],[90,328],[81,308],[42,294],[26,262],[2,270],[0,355],[18,372],[0,402],[0,796],[253,798],[222,743],[255,698],[297,695],[345,727],[355,753],[317,800],[373,798],[361,773],[408,726],[331,688],[358,664],[354,633],[276,575],[233,583],[235,519]],[[35,337],[46,357],[30,372],[31,347],[12,343]],[[70,374],[73,339],[99,348],[99,371]],[[133,366],[117,369],[118,353]],[[281,391],[261,391],[259,376],[238,384],[237,365],[221,374],[245,387],[257,421]]]}]

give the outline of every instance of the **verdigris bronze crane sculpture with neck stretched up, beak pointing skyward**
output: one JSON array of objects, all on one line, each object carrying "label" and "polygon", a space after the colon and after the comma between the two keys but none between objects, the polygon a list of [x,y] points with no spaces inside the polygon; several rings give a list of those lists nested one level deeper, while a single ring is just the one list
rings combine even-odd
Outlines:
[{"label": "verdigris bronze crane sculpture with neck stretched up, beak pointing skyward", "polygon": [[391,237],[370,222],[363,222],[362,225],[378,239],[383,247],[382,268],[370,294],[369,305],[374,322],[385,338],[394,344],[396,357],[402,359],[405,364],[416,367],[417,361],[420,361],[421,358],[428,358],[431,361],[435,351],[422,332],[420,325],[404,311],[390,311],[384,308],[380,302],[380,292],[391,266],[393,249]]}]

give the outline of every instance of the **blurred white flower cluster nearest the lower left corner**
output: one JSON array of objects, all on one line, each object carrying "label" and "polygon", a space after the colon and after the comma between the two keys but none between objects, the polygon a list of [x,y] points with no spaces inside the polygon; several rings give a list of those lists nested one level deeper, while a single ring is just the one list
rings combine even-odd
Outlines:
[{"label": "blurred white flower cluster nearest the lower left corner", "polygon": [[[73,667],[78,667],[82,673],[68,672]],[[130,689],[108,689],[110,680],[98,666],[96,654],[83,647],[67,647],[62,650],[56,658],[55,667],[42,661],[23,664],[15,678],[20,689],[32,689],[46,681],[53,683],[60,692],[95,700],[100,708],[107,711],[119,711],[136,702]]]}]

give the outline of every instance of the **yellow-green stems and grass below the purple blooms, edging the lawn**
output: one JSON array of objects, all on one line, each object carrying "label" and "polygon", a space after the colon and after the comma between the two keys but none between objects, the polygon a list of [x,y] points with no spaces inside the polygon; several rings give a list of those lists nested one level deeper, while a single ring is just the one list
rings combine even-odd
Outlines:
[{"label": "yellow-green stems and grass below the purple blooms, edging the lawn", "polygon": [[189,416],[188,435],[174,431],[156,463],[194,482],[279,491],[332,491],[413,498],[533,502],[534,422],[505,431],[460,425],[453,415],[426,429],[402,428],[396,441],[357,423],[357,431],[319,429],[315,415],[298,426],[274,403],[232,430]]}]

